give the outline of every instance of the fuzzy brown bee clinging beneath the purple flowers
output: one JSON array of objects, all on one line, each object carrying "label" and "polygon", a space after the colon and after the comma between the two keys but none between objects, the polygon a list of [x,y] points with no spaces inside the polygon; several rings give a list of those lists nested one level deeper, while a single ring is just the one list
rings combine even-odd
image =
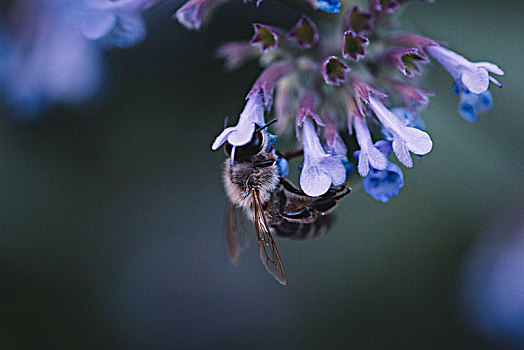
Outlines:
[{"label": "fuzzy brown bee clinging beneath the purple flowers", "polygon": [[[271,123],[271,122],[270,122]],[[226,208],[226,247],[233,263],[243,248],[242,232],[237,225],[237,209],[243,209],[253,220],[260,259],[267,271],[282,285],[286,274],[273,235],[289,239],[307,239],[324,234],[333,221],[329,215],[337,202],[351,189],[342,185],[331,188],[320,197],[310,197],[284,175],[287,159],[301,155],[281,155],[273,148],[275,136],[256,125],[251,141],[233,148],[228,142],[228,156],[223,181],[228,197]],[[231,159],[233,153],[234,159]]]}]

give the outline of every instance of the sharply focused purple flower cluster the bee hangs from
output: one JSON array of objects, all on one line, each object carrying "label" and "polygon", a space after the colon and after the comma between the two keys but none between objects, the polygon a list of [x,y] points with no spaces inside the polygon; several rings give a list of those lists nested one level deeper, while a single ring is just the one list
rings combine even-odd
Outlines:
[{"label": "sharply focused purple flower cluster the bee hangs from", "polygon": [[[263,123],[265,109],[278,118],[278,133],[295,130],[302,140],[300,186],[306,194],[319,196],[342,184],[351,162],[371,197],[387,202],[396,196],[403,174],[390,154],[411,168],[412,154],[421,157],[433,147],[419,117],[432,93],[417,79],[430,59],[451,75],[460,94],[459,113],[470,122],[492,106],[489,82],[500,87],[490,74],[503,74],[493,63],[470,62],[441,42],[399,31],[393,19],[406,1],[370,0],[366,8],[337,14],[337,0],[308,0],[332,15],[302,16],[289,30],[257,23],[251,40],[220,47],[218,56],[227,68],[258,59],[263,70],[238,125],[226,128],[213,149],[226,139],[234,146],[247,143],[254,123]],[[224,2],[190,0],[176,17],[200,29]],[[359,149],[348,149],[343,140]]]}]

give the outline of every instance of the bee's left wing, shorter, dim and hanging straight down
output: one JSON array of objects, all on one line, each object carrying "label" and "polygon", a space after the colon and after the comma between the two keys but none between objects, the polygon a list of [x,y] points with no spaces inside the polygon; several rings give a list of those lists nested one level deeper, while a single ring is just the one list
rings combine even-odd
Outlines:
[{"label": "bee's left wing, shorter, dim and hanging straight down", "polygon": [[229,259],[233,264],[238,264],[240,253],[249,245],[248,237],[246,237],[246,230],[240,229],[242,222],[239,222],[243,215],[239,209],[227,201],[226,206],[226,248]]}]

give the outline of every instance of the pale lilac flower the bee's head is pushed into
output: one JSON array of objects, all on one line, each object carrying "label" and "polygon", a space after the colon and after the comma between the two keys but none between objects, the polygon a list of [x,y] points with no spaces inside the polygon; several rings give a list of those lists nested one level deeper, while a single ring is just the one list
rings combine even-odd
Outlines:
[{"label": "pale lilac flower the bee's head is pushed into", "polygon": [[255,124],[264,124],[264,103],[261,92],[247,100],[246,106],[240,114],[238,124],[225,128],[213,142],[211,149],[217,150],[227,141],[233,146],[233,151],[231,152],[231,160],[233,160],[235,147],[243,146],[251,140],[255,131]]}]

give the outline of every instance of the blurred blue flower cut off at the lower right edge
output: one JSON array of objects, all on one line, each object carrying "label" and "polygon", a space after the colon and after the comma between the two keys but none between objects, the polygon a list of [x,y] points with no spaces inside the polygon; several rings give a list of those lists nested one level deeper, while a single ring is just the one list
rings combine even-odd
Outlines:
[{"label": "blurred blue flower cut off at the lower right edge", "polygon": [[[468,328],[503,349],[524,342],[524,215],[506,208],[481,234],[465,256],[459,274],[462,317]],[[507,214],[506,214],[507,215]]]}]

